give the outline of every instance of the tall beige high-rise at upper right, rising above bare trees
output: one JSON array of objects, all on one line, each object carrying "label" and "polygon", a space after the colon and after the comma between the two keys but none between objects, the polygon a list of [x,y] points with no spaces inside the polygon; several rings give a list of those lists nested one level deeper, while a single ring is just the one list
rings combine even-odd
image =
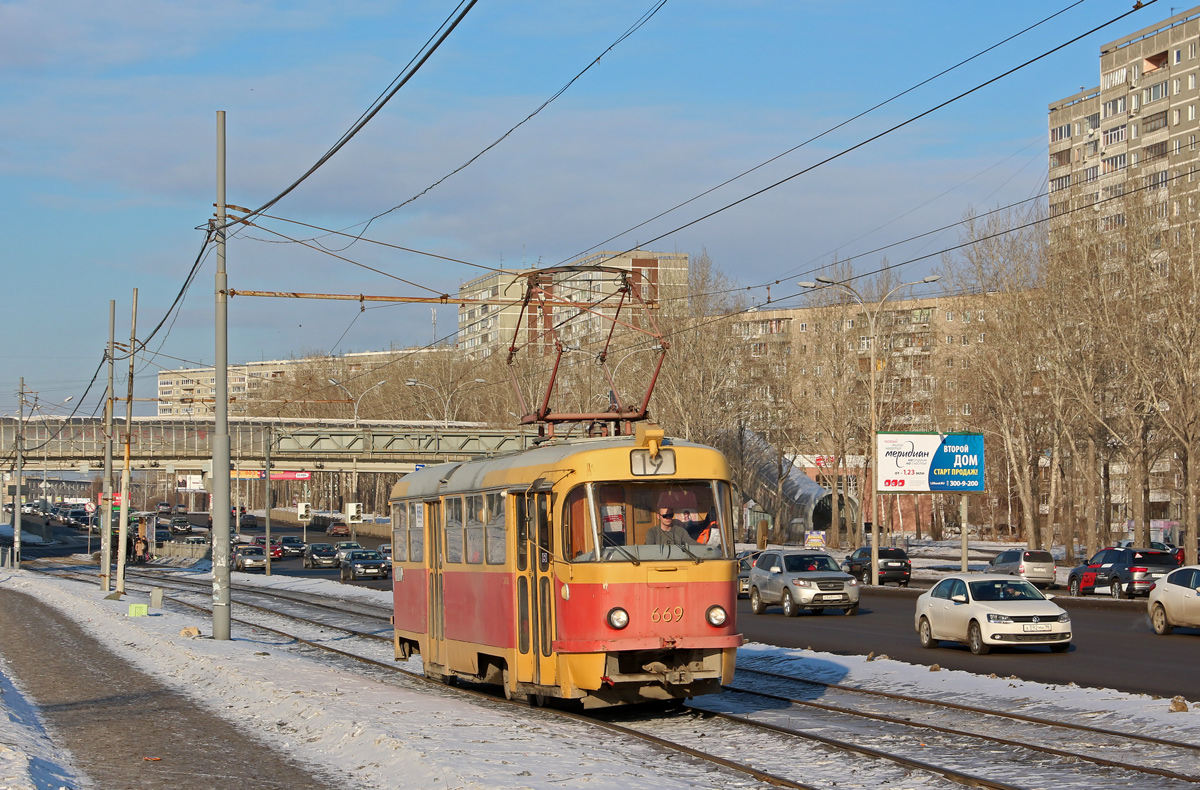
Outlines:
[{"label": "tall beige high-rise at upper right, rising above bare trees", "polygon": [[1200,199],[1200,6],[1100,47],[1100,84],[1050,104],[1050,240],[1116,231],[1134,194],[1159,219]]}]

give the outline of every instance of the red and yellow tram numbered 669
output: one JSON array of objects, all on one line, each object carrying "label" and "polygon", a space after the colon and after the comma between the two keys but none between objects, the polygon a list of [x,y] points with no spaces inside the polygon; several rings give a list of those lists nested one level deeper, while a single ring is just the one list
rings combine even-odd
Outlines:
[{"label": "red and yellow tram numbered 669", "polygon": [[584,707],[716,692],[742,644],[731,504],[718,450],[647,424],[413,472],[391,491],[396,658]]}]

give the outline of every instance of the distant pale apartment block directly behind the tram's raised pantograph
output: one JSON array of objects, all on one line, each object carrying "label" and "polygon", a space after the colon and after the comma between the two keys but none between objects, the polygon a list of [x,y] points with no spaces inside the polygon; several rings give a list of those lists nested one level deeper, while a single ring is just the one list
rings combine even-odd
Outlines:
[{"label": "distant pale apartment block directly behind the tram's raised pantograph", "polygon": [[[642,299],[656,301],[665,294],[685,294],[688,287],[688,255],[680,252],[596,252],[572,261],[569,269],[607,267],[630,273]],[[565,270],[545,275],[541,283],[557,298],[575,303],[596,303],[593,312],[578,307],[551,306],[539,310],[530,306],[522,319],[521,300],[530,275],[536,269],[502,269],[466,282],[458,288],[458,341],[461,351],[474,358],[497,351],[506,352],[514,337],[520,345],[532,345],[542,352],[552,348],[551,329],[568,345],[586,345],[601,340],[612,328],[617,299],[612,297],[616,280],[602,271]],[[508,304],[487,304],[481,300],[502,300]],[[469,300],[469,301],[466,301]],[[637,325],[643,317],[630,306],[623,309],[623,321]],[[518,323],[521,324],[518,327]],[[520,334],[518,334],[520,330]]]}]

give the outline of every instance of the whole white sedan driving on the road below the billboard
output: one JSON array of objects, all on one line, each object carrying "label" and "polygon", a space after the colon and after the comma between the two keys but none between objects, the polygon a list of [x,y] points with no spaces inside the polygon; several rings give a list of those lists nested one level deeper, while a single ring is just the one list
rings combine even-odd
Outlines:
[{"label": "whole white sedan driving on the road below the billboard", "polygon": [[947,576],[917,599],[920,646],[962,642],[976,656],[998,645],[1070,647],[1070,615],[1024,579],[996,574]]}]

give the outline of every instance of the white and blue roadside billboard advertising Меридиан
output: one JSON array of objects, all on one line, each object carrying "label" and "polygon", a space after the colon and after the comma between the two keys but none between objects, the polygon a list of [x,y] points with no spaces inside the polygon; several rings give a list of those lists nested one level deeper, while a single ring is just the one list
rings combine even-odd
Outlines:
[{"label": "white and blue roadside billboard advertising \u041c\u0435\u0440\u0438\u0434\u0438\u0430\u043d", "polygon": [[880,493],[986,491],[983,433],[880,433],[875,453]]}]

